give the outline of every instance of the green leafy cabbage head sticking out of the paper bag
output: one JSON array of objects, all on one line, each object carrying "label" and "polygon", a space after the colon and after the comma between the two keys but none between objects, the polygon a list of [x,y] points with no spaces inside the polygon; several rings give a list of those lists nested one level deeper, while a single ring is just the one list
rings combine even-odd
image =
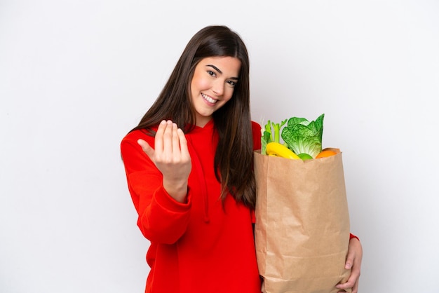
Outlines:
[{"label": "green leafy cabbage head sticking out of the paper bag", "polygon": [[321,114],[316,121],[298,117],[288,119],[281,133],[283,141],[295,154],[309,154],[316,158],[322,151],[324,117],[325,114]]}]

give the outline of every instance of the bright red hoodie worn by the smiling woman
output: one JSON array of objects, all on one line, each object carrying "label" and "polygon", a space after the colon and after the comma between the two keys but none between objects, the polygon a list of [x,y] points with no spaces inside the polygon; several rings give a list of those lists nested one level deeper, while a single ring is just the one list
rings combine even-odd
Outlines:
[{"label": "bright red hoodie worn by the smiling woman", "polygon": [[[186,135],[192,162],[187,203],[168,195],[161,172],[137,144],[141,138],[154,147],[154,137],[135,130],[121,142],[137,225],[151,242],[147,293],[261,292],[252,211],[230,195],[223,207],[219,198],[214,129],[210,121]],[[260,149],[260,130],[252,123],[254,149]]]}]

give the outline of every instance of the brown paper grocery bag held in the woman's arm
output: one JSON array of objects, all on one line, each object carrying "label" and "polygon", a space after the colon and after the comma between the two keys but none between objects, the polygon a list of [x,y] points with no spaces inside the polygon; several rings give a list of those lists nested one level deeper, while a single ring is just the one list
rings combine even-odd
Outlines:
[{"label": "brown paper grocery bag held in the woman's arm", "polygon": [[255,151],[255,245],[265,293],[332,293],[344,268],[349,211],[342,153],[314,160]]}]

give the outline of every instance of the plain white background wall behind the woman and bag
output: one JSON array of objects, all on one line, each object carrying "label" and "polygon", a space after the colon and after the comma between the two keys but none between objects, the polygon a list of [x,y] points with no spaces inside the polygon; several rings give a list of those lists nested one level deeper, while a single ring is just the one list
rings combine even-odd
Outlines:
[{"label": "plain white background wall behind the woman and bag", "polygon": [[248,45],[252,118],[343,151],[360,292],[438,292],[439,2],[0,0],[0,292],[143,292],[119,142],[189,38]]}]

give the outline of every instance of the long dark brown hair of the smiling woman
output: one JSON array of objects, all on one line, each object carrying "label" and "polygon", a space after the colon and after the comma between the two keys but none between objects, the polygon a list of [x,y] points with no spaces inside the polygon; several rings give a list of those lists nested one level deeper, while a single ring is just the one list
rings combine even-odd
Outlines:
[{"label": "long dark brown hair of the smiling woman", "polygon": [[160,95],[133,130],[147,130],[154,135],[152,128],[163,119],[174,121],[186,133],[193,130],[196,112],[191,103],[190,85],[195,67],[203,58],[219,56],[238,58],[241,70],[231,99],[212,115],[219,135],[213,167],[217,180],[222,184],[222,200],[228,191],[237,202],[254,208],[250,64],[245,43],[229,27],[205,27],[191,38]]}]

